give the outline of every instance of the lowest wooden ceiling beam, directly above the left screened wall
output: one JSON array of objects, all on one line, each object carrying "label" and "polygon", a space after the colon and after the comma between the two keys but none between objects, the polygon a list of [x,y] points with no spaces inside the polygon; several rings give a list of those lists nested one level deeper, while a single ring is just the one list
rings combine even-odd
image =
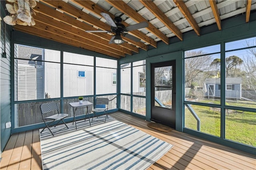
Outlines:
[{"label": "lowest wooden ceiling beam, directly above the left screened wall", "polygon": [[59,36],[59,35],[56,35],[56,34],[45,32],[45,30],[38,29],[34,26],[28,27],[28,26],[16,25],[16,26],[14,26],[14,30],[18,30],[18,31],[21,31],[21,32],[25,32],[25,33],[34,35],[34,36],[39,36],[39,37],[42,37],[42,38],[46,38],[46,39],[49,39],[49,40],[61,42],[61,43],[64,43],[64,44],[72,45],[72,46],[79,47],[79,48],[82,48],[82,49],[87,49],[89,51],[95,51],[97,53],[102,53],[102,54],[105,54],[105,55],[109,55],[111,57],[120,58],[119,55],[116,55],[114,53],[110,53],[108,51],[102,50],[102,49],[94,47],[94,46],[85,45],[84,43],[80,43],[80,42],[77,42],[76,40],[71,40],[71,39],[63,37],[63,36]]}]

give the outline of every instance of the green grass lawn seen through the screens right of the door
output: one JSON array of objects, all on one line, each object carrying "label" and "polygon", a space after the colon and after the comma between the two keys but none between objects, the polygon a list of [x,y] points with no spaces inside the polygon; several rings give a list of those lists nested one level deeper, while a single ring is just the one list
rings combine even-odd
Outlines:
[{"label": "green grass lawn seen through the screens right of the door", "polygon": [[[208,103],[208,101],[200,101]],[[229,103],[228,103],[229,104]],[[227,104],[227,105],[228,105]],[[229,105],[241,106],[241,103],[232,102]],[[252,103],[243,103],[243,107],[252,107]],[[255,105],[255,104],[254,104]],[[212,109],[212,107],[191,105],[195,113],[200,118],[200,131],[214,136],[220,137],[220,111],[218,109]],[[255,106],[254,106],[255,107]],[[252,108],[254,108],[252,107]],[[235,114],[234,110],[226,110],[225,119],[225,135],[226,139],[234,140],[250,146],[256,146],[256,113],[244,112],[244,118],[242,113]],[[190,113],[188,109],[185,109],[185,127],[196,130],[196,119]]]}]

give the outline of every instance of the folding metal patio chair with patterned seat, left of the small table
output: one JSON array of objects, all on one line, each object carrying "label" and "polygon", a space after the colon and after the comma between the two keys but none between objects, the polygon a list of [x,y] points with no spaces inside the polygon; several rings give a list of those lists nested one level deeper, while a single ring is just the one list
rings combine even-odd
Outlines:
[{"label": "folding metal patio chair with patterned seat, left of the small table", "polygon": [[[66,125],[66,123],[63,121],[63,119],[68,117],[68,114],[62,114],[62,113],[60,114],[56,102],[43,103],[40,105],[40,110],[42,113],[44,124],[46,125],[46,127],[44,127],[40,133],[42,133],[45,128],[48,128],[50,130],[50,132],[52,133],[52,136],[54,136],[54,133],[50,129],[50,125],[52,123],[54,123],[55,121],[58,121],[58,122],[56,123],[56,125],[54,127],[56,127],[60,121],[62,121]],[[44,114],[50,113],[50,112],[54,113],[54,111],[57,111],[58,114],[54,114],[54,115],[52,114],[51,116],[44,117]],[[50,120],[50,122],[46,122],[46,120]],[[66,125],[66,127],[68,128],[67,125]],[[62,130],[62,129],[60,129],[60,130]],[[58,130],[58,131],[60,131],[60,130]],[[58,132],[58,131],[56,131],[56,132]]]}]

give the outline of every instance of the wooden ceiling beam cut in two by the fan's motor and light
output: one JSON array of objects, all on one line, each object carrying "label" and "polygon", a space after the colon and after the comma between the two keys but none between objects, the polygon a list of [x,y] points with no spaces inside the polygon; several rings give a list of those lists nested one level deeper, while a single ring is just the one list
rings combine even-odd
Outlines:
[{"label": "wooden ceiling beam cut in two by the fan's motor and light", "polygon": [[[48,4],[54,8],[58,8],[59,10],[65,12],[66,14],[72,15],[75,18],[78,18],[79,20],[82,20],[90,25],[93,25],[97,28],[100,28],[101,30],[110,30],[110,26],[104,22],[99,21],[98,19],[94,18],[93,16],[90,16],[89,14],[86,14],[85,12],[82,12],[82,10],[79,10],[70,4],[61,1],[61,0],[41,0],[40,2],[44,2],[45,4]],[[95,33],[96,34],[96,33]],[[142,42],[134,42],[130,40],[129,38],[122,37],[126,42],[130,42],[142,49],[147,50],[148,47],[142,43]]]}]

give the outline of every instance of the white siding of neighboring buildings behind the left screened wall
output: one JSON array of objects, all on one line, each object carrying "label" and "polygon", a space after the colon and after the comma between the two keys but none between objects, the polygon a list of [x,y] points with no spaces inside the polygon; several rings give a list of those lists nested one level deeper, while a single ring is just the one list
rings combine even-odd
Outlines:
[{"label": "white siding of neighboring buildings behind the left screened wall", "polygon": [[[61,97],[60,51],[22,45],[18,47],[18,100]],[[42,63],[22,60],[30,59],[30,54],[42,55]],[[68,52],[64,52],[63,57],[63,96],[94,95],[94,57]],[[98,58],[97,62],[100,67],[96,67],[96,94],[116,93],[112,73],[116,73],[117,61]],[[78,77],[78,71],[85,71],[85,77]]]}]

